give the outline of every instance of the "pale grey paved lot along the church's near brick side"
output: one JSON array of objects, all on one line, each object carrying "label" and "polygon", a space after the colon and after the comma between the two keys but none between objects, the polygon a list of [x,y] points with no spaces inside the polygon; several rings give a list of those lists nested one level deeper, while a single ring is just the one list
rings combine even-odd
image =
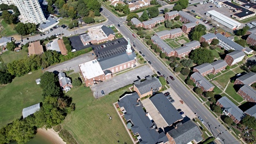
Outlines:
[{"label": "pale grey paved lot along the church's near brick side", "polygon": [[133,84],[133,82],[137,80],[137,75],[143,79],[147,75],[155,74],[148,65],[138,68],[134,67],[132,69],[133,70],[127,71],[127,73],[117,75],[111,79],[101,82],[100,84],[91,86],[93,96],[95,98],[99,98],[102,97],[101,90],[103,90],[105,94],[108,94],[116,89],[122,88],[123,86]]}]

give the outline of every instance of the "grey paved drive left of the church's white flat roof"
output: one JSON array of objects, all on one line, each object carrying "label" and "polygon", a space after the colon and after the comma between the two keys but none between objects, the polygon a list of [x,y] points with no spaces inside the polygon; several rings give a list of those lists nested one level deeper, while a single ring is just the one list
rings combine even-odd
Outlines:
[{"label": "grey paved drive left of the church's white flat roof", "polygon": [[59,63],[58,65],[47,67],[44,71],[69,71],[74,70],[73,73],[78,73],[80,71],[78,65],[81,63],[89,62],[90,60],[95,59],[95,56],[91,52],[77,56],[76,58],[67,60],[65,62]]}]

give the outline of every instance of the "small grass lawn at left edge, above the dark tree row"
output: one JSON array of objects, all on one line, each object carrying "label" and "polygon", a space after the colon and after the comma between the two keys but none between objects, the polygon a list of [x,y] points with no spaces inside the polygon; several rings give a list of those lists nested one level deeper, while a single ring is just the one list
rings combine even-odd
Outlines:
[{"label": "small grass lawn at left edge, above the dark tree row", "polygon": [[26,52],[26,50],[28,50],[27,47],[23,48],[21,51],[18,51],[18,52],[6,51],[6,52],[3,52],[3,54],[1,55],[1,58],[5,63],[11,63],[14,60],[24,59],[28,57],[28,52]]}]

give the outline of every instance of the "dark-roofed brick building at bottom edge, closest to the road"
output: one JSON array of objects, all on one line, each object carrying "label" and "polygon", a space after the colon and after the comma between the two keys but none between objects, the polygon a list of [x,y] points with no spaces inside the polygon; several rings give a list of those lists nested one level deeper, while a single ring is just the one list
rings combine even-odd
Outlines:
[{"label": "dark-roofed brick building at bottom edge, closest to the road", "polygon": [[166,136],[170,143],[176,144],[199,143],[203,139],[201,130],[192,120],[176,124],[171,131],[167,132]]}]

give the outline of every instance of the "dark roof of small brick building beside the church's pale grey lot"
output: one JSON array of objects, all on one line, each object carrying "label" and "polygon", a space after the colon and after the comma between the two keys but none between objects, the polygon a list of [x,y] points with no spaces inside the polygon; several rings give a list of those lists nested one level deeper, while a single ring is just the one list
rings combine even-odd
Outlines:
[{"label": "dark roof of small brick building beside the church's pale grey lot", "polygon": [[145,81],[139,82],[138,84],[134,84],[137,88],[140,94],[148,93],[152,89],[158,89],[162,85],[158,78],[148,78]]}]

